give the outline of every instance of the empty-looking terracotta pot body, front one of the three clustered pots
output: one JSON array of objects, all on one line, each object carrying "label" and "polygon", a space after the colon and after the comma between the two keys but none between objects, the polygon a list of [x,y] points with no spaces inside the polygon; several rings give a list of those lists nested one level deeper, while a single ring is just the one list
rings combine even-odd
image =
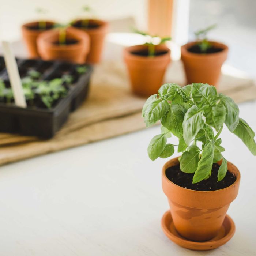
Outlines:
[{"label": "empty-looking terracotta pot body, front one of the three clustered pots", "polygon": [[83,64],[89,52],[90,38],[79,29],[69,27],[66,35],[67,41],[75,40],[74,44],[59,45],[59,30],[45,31],[37,38],[38,52],[43,60],[64,60]]}]

